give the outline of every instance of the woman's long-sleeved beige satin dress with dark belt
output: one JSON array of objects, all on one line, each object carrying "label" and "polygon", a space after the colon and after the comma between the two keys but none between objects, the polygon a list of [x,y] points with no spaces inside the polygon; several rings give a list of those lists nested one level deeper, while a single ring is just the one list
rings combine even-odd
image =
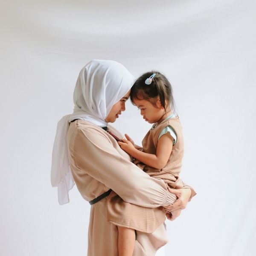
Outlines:
[{"label": "woman's long-sleeved beige satin dress with dark belt", "polygon": [[[121,136],[113,127],[113,133]],[[139,205],[141,221],[154,216],[152,227],[137,232],[134,256],[153,256],[167,243],[163,224],[163,205],[172,204],[163,180],[150,177],[123,151],[116,140],[102,128],[83,120],[70,124],[67,134],[69,162],[76,186],[86,201],[113,189],[124,201]],[[116,194],[114,194],[116,192]],[[107,220],[107,198],[91,206],[87,256],[118,256],[118,229]],[[149,216],[149,217],[148,217]],[[143,224],[143,226],[145,226]]]}]

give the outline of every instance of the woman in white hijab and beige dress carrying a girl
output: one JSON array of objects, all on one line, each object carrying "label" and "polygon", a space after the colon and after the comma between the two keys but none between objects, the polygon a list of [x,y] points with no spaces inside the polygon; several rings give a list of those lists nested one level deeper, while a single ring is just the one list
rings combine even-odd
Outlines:
[{"label": "woman in white hijab and beige dress carrying a girl", "polygon": [[118,255],[118,229],[108,221],[111,189],[124,201],[143,208],[142,221],[148,215],[154,216],[149,230],[137,231],[134,256],[154,255],[157,248],[166,244],[161,206],[172,211],[183,209],[191,196],[187,187],[177,189],[179,199],[170,205],[174,194],[166,191],[164,182],[131,163],[131,157],[106,131],[121,136],[108,122],[115,122],[125,111],[133,81],[131,73],[115,61],[90,61],[79,73],[73,114],[58,122],[52,153],[52,186],[58,186],[59,203],[64,204],[69,201],[68,190],[74,179],[82,197],[92,204],[88,256]]}]

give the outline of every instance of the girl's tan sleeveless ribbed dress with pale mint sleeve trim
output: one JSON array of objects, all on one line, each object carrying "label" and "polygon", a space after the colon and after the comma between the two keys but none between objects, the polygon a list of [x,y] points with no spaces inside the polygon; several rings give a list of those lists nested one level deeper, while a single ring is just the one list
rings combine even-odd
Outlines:
[{"label": "girl's tan sleeveless ribbed dress with pale mint sleeve trim", "polygon": [[[164,166],[163,169],[156,169],[147,166],[138,160],[135,160],[134,163],[151,177],[162,179],[166,184],[166,189],[168,187],[175,189],[189,187],[186,186],[179,177],[184,145],[182,127],[178,117],[165,119],[159,125],[154,125],[145,135],[142,141],[143,148],[141,148],[141,150],[148,154],[156,154],[159,134],[167,126],[171,126],[175,130],[177,139],[175,145],[172,146],[172,152],[166,166]],[[194,195],[195,191],[192,189],[191,196]],[[148,196],[150,197],[151,195]],[[153,233],[157,225],[161,224],[166,218],[163,207],[162,212],[157,212],[160,215],[150,215],[144,212],[146,211],[144,207],[141,208],[137,205],[125,202],[122,198],[119,198],[118,195],[114,195],[113,193],[108,196],[108,202],[107,219],[112,223],[123,227],[133,228],[146,233]],[[145,214],[147,218],[142,220],[142,218],[145,217]],[[159,220],[162,222],[159,223]]]}]

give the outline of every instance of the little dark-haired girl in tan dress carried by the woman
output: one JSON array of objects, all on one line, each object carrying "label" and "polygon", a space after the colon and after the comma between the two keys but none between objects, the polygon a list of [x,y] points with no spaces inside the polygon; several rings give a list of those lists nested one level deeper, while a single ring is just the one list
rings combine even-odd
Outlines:
[{"label": "little dark-haired girl in tan dress carried by the woman", "polygon": [[[151,177],[163,179],[166,189],[180,189],[184,187],[179,178],[183,157],[183,135],[179,117],[174,114],[174,99],[172,86],[163,74],[152,71],[140,76],[131,88],[131,101],[140,109],[140,114],[146,122],[153,126],[145,135],[139,148],[133,140],[125,134],[127,140],[118,142],[121,148],[134,158],[144,172]],[[192,196],[195,192],[192,190]],[[119,256],[132,256],[135,242],[135,231],[131,228],[131,215],[134,219],[140,218],[136,209],[129,215],[129,221],[125,222],[128,211],[124,201],[113,200],[113,212],[120,216],[119,230]],[[175,201],[175,198],[174,198]],[[117,204],[118,206],[115,206]],[[131,212],[131,211],[130,211]],[[137,214],[136,214],[137,213]],[[175,219],[179,212],[166,212],[167,218]],[[116,217],[116,216],[115,216]],[[111,219],[110,219],[111,221]],[[138,221],[137,221],[138,222]],[[136,223],[136,221],[134,221]],[[147,224],[148,225],[148,224]],[[140,230],[140,229],[137,229]]]}]

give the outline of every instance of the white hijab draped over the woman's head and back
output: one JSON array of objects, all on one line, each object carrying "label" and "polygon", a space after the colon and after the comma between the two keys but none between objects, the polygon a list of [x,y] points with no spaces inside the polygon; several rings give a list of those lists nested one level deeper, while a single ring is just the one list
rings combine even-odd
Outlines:
[{"label": "white hijab draped over the woman's head and back", "polygon": [[134,77],[116,61],[92,60],[79,73],[73,94],[73,114],[58,122],[52,150],[52,186],[58,186],[58,202],[69,202],[68,192],[74,186],[67,154],[67,131],[73,119],[83,119],[107,126],[105,118],[112,106],[131,89]]}]

